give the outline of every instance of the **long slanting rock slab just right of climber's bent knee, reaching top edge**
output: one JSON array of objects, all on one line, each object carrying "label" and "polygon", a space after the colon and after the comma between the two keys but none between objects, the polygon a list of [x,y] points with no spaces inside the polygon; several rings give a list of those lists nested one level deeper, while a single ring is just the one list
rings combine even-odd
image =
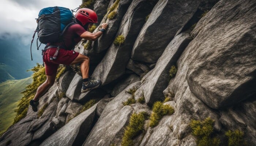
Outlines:
[{"label": "long slanting rock slab just right of climber's bent knee, reaching top edge", "polygon": [[[122,1],[120,1],[121,4]],[[117,35],[125,37],[124,44],[116,46],[112,43],[102,61],[95,68],[93,77],[100,79],[106,85],[125,73],[125,66],[129,61],[132,46],[140,28],[144,24],[144,17],[153,8],[152,3],[146,0],[134,0],[128,8]],[[118,14],[117,14],[118,15]]]}]

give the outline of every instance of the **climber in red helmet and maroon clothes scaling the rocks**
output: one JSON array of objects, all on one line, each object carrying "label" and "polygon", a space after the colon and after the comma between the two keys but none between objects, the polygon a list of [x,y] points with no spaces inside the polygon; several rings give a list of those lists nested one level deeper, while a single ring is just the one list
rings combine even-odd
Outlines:
[{"label": "climber in red helmet and maroon clothes scaling the rocks", "polygon": [[[78,9],[75,15],[75,24],[68,27],[64,32],[63,41],[52,44],[48,43],[46,45],[42,54],[47,78],[46,81],[38,87],[34,99],[30,100],[30,105],[32,106],[34,112],[37,111],[39,98],[54,84],[59,64],[81,64],[80,68],[83,77],[81,92],[90,91],[91,89],[98,88],[101,85],[100,80],[93,80],[89,77],[89,57],[72,50],[76,43],[81,41],[82,38],[95,41],[103,34],[106,28],[108,28],[108,24],[103,23],[101,25],[101,29],[98,32],[91,33],[86,31],[93,26],[93,23],[98,23],[97,14],[93,10],[88,8]],[[59,52],[57,53],[56,50],[59,50]],[[56,55],[56,53],[57,58],[53,59],[52,57],[54,54]]]}]

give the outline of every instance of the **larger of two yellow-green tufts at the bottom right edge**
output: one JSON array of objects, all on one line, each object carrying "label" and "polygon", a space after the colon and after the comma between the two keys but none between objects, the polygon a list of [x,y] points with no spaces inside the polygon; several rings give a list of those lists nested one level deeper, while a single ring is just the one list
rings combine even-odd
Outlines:
[{"label": "larger of two yellow-green tufts at the bottom right edge", "polygon": [[192,135],[196,137],[197,146],[219,146],[220,140],[213,137],[214,120],[210,117],[200,120],[191,120]]}]

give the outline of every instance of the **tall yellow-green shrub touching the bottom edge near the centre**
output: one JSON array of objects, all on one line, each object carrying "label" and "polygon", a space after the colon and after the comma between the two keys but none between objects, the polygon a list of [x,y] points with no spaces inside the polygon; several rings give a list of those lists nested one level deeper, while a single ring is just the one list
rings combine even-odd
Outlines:
[{"label": "tall yellow-green shrub touching the bottom edge near the centre", "polygon": [[128,126],[124,130],[124,136],[121,142],[121,146],[133,146],[133,138],[140,134],[144,130],[144,124],[147,116],[144,112],[139,114],[133,113],[129,120]]}]

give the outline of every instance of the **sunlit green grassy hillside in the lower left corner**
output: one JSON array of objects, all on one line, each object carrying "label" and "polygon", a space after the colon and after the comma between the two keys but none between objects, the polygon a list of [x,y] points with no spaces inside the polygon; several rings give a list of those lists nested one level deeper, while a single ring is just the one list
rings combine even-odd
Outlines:
[{"label": "sunlit green grassy hillside in the lower left corner", "polygon": [[32,78],[8,80],[0,83],[0,135],[12,125],[16,113],[14,109],[23,96],[20,92],[32,82]]}]

